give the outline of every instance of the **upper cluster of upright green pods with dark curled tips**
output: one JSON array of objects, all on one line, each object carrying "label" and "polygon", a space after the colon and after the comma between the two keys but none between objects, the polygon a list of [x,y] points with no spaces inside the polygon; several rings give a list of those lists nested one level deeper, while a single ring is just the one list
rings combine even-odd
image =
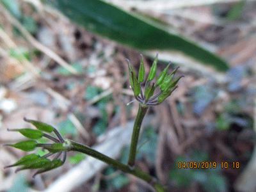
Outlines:
[{"label": "upper cluster of upright green pods with dark curled tips", "polygon": [[[178,87],[176,84],[178,83],[179,79],[181,77],[184,77],[184,75],[182,75],[180,77],[173,79],[173,76],[175,75],[179,67],[175,68],[175,70],[173,70],[173,72],[170,75],[168,75],[168,67],[171,64],[170,62],[169,65],[166,68],[164,68],[163,72],[161,72],[159,77],[157,77],[156,83],[150,84],[150,81],[152,81],[156,76],[157,60],[158,54],[156,55],[153,65],[150,68],[148,78],[145,82],[144,92],[143,88],[141,88],[141,84],[144,82],[145,77],[143,56],[141,55],[138,79],[136,77],[135,71],[132,68],[130,61],[127,60],[129,65],[131,88],[134,92],[135,99],[138,100],[142,104],[142,106],[156,106],[161,104],[161,102],[163,102],[164,99],[169,97],[175,90],[175,88]],[[160,91],[156,93],[156,95],[154,95],[154,91],[158,86],[160,88]]]}]

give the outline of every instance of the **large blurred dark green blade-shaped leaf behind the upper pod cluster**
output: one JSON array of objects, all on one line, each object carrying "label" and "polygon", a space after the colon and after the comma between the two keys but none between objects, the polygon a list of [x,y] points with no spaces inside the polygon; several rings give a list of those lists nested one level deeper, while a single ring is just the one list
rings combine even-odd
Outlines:
[{"label": "large blurred dark green blade-shaped leaf behind the upper pod cluster", "polygon": [[49,2],[77,24],[120,44],[139,50],[179,51],[218,70],[228,70],[227,63],[211,52],[136,13],[127,13],[100,0]]}]

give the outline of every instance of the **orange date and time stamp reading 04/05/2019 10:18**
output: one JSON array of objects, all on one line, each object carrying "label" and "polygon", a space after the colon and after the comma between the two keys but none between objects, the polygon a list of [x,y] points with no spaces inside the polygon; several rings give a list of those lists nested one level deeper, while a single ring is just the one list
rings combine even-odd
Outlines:
[{"label": "orange date and time stamp reading 04/05/2019 10:18", "polygon": [[178,162],[178,168],[191,168],[191,169],[209,169],[209,168],[217,168],[220,166],[221,168],[234,168],[238,169],[240,167],[239,162],[208,162],[208,161],[188,161],[188,162]]}]

